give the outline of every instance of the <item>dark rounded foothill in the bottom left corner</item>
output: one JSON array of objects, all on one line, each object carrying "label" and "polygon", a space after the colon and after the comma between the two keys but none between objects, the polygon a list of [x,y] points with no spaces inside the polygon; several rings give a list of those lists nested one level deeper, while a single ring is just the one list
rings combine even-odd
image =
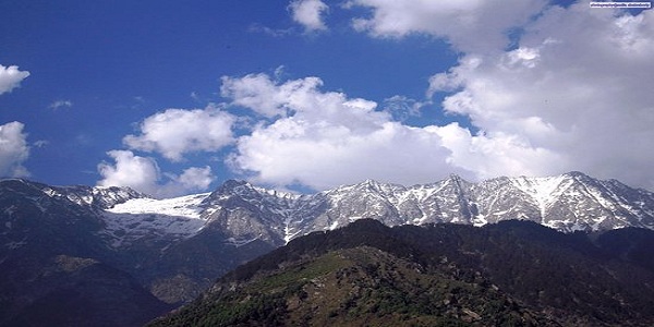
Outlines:
[{"label": "dark rounded foothill in the bottom left corner", "polygon": [[[172,308],[129,274],[96,259],[65,255],[31,259],[39,261],[35,269],[0,272],[0,326],[141,326]],[[1,267],[8,265],[12,263]],[[9,271],[23,276],[10,277]]]}]

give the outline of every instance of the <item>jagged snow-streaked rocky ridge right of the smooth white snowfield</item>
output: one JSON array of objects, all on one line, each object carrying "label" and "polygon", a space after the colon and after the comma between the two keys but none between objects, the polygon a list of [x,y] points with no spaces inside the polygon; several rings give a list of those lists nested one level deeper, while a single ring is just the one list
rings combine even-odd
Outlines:
[{"label": "jagged snow-streaked rocky ridge right of the smooth white snowfield", "polygon": [[[179,198],[184,197],[193,195]],[[376,218],[388,226],[483,226],[524,219],[565,232],[654,228],[652,192],[615,180],[595,180],[581,172],[549,178],[500,177],[479,183],[450,175],[412,186],[367,180],[314,194],[292,194],[229,180],[195,198],[198,202],[190,206],[196,207],[197,215],[181,217],[199,218],[204,226],[218,223],[235,243],[262,238],[284,244],[298,235],[342,227],[360,218]],[[123,204],[118,203],[108,211],[135,214]],[[232,208],[240,210],[234,213]],[[155,207],[150,214],[158,214]]]}]

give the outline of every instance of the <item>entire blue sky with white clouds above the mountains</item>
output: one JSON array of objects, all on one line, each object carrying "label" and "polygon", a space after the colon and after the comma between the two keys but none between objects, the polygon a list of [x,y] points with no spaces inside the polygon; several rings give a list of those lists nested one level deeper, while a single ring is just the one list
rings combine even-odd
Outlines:
[{"label": "entire blue sky with white clouds above the mountains", "polygon": [[653,58],[652,10],[589,1],[0,0],[0,177],[653,191]]}]

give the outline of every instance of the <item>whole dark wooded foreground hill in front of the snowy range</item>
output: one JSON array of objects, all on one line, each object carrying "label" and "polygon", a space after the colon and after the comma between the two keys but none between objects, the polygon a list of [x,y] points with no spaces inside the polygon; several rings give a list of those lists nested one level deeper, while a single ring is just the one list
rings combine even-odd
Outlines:
[{"label": "whole dark wooded foreground hill in front of the snowy range", "polygon": [[530,222],[364,219],[295,239],[150,326],[650,326],[653,282],[585,235]]}]

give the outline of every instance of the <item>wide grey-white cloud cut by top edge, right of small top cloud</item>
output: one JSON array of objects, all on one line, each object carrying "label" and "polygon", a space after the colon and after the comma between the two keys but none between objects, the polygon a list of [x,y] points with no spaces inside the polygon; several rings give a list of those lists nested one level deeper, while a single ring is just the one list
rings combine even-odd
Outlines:
[{"label": "wide grey-white cloud cut by top edge, right of small top cloud", "polygon": [[356,17],[353,26],[375,37],[427,34],[450,41],[457,49],[500,50],[506,33],[538,13],[545,0],[351,0],[346,8],[363,7],[371,16]]}]

